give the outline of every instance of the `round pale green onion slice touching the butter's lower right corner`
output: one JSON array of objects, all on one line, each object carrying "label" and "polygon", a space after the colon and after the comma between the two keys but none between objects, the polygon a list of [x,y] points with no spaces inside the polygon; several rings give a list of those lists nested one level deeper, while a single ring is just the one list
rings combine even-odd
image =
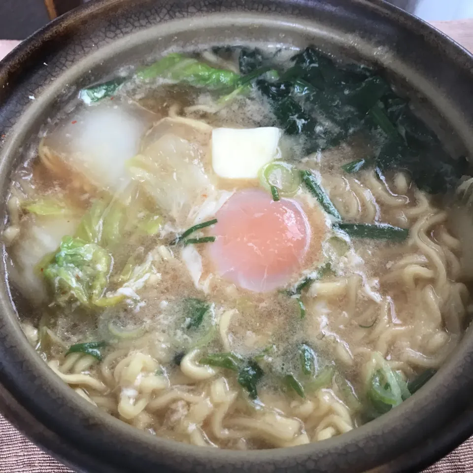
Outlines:
[{"label": "round pale green onion slice touching the butter's lower right corner", "polygon": [[273,198],[273,187],[276,188],[278,195],[292,197],[301,184],[300,173],[293,166],[282,161],[268,163],[259,170],[258,175],[261,185],[271,191]]}]

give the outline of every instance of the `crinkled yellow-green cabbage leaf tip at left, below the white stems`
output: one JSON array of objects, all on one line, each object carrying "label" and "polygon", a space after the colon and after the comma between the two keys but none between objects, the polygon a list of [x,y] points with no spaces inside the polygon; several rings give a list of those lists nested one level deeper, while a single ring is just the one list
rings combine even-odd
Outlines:
[{"label": "crinkled yellow-green cabbage leaf tip at left, below the white stems", "polygon": [[57,304],[78,301],[91,306],[101,298],[110,268],[111,257],[101,246],[65,236],[43,275],[53,289]]}]

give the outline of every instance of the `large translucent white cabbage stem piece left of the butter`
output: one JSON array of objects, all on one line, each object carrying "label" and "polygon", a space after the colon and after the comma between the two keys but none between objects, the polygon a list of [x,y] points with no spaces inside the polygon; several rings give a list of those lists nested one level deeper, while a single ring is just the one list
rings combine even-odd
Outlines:
[{"label": "large translucent white cabbage stem piece left of the butter", "polygon": [[50,169],[82,187],[114,193],[130,181],[125,163],[153,119],[151,112],[119,101],[86,107],[46,135],[39,154]]}]

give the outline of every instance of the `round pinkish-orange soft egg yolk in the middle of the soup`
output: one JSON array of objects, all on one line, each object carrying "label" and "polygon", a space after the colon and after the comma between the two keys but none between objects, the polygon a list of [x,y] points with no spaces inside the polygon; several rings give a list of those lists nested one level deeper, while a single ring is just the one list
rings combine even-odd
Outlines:
[{"label": "round pinkish-orange soft egg yolk in the middle of the soup", "polygon": [[217,272],[237,286],[266,292],[285,285],[304,260],[310,226],[294,200],[260,189],[236,192],[217,212],[209,245]]}]

